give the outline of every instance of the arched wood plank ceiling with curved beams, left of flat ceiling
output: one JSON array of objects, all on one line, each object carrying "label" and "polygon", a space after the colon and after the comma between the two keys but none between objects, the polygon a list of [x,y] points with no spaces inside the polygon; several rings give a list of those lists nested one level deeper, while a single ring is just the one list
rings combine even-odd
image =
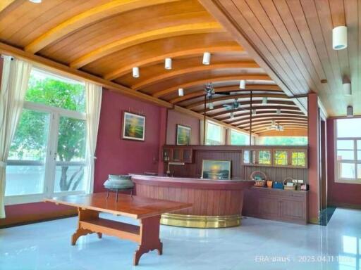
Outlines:
[{"label": "arched wood plank ceiling with curved beams, left of flat ceiling", "polygon": [[[207,116],[245,131],[252,90],[252,131],[262,134],[272,120],[284,129],[307,129],[307,116],[290,95],[196,0],[7,0],[0,5],[0,41],[0,47],[15,47],[200,114],[204,85],[212,82],[214,108],[207,101]],[[212,55],[210,65],[202,64],[205,51]],[[171,70],[164,68],[165,58],[172,58]],[[140,68],[140,77],[132,76],[133,67]],[[288,71],[292,85],[304,89],[302,78],[293,81]],[[240,90],[241,79],[246,89]],[[178,96],[178,88],[184,96]],[[235,98],[241,109],[226,111],[223,105]]]}]

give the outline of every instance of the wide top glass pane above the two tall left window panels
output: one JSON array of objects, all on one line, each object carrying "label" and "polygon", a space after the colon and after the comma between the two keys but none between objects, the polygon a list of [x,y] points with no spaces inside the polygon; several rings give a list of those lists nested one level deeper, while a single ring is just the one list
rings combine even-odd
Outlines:
[{"label": "wide top glass pane above the two tall left window panels", "polygon": [[33,69],[25,101],[85,112],[85,86],[72,79]]}]

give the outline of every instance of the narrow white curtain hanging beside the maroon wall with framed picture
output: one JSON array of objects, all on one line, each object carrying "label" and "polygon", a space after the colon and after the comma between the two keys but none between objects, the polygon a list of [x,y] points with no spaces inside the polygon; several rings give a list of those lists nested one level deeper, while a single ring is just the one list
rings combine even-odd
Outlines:
[{"label": "narrow white curtain hanging beside the maroon wall with framed picture", "polygon": [[85,91],[87,96],[87,168],[85,179],[87,179],[86,191],[92,193],[94,189],[95,148],[97,147],[100,107],[102,105],[102,86],[86,82]]}]

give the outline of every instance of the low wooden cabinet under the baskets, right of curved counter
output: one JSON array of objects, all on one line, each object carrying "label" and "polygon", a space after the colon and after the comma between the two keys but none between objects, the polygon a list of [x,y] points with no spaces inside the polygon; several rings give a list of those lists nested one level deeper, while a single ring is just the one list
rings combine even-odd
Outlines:
[{"label": "low wooden cabinet under the baskets, right of curved counter", "polygon": [[252,187],[245,191],[243,215],[307,224],[308,192]]}]

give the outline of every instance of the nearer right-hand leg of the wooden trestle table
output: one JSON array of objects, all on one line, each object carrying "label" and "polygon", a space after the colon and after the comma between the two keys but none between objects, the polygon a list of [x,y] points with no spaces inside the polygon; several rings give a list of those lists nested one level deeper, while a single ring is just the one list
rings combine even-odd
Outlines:
[{"label": "nearer right-hand leg of the wooden trestle table", "polygon": [[158,250],[158,254],[163,253],[163,243],[159,239],[159,224],[161,216],[148,217],[140,221],[140,245],[134,253],[133,264],[138,265],[140,257],[151,251]]}]

